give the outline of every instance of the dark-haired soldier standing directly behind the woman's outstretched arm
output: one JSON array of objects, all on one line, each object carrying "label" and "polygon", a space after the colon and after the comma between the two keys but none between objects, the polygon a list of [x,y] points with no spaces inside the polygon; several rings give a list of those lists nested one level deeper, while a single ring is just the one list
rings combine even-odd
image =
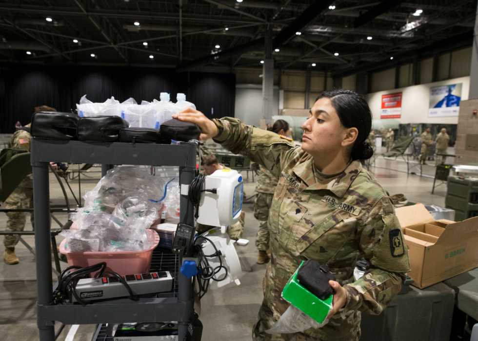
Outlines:
[{"label": "dark-haired soldier standing directly behind the woman's outstretched arm", "polygon": [[[289,123],[284,120],[275,121],[270,131],[290,138]],[[256,200],[254,201],[254,218],[259,221],[259,230],[256,237],[256,247],[259,250],[258,264],[270,261],[269,255],[267,255],[270,239],[267,221],[278,180],[264,166],[259,166],[259,179],[256,184],[257,193]]]}]

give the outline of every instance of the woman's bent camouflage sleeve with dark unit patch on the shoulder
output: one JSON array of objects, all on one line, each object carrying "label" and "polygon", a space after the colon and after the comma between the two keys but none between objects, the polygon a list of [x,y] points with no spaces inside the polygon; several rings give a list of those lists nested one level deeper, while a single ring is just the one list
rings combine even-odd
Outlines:
[{"label": "woman's bent camouflage sleeve with dark unit patch on the shoulder", "polygon": [[370,268],[358,281],[343,286],[345,309],[379,314],[398,294],[410,271],[407,245],[389,197],[375,204],[358,226],[356,238]]}]

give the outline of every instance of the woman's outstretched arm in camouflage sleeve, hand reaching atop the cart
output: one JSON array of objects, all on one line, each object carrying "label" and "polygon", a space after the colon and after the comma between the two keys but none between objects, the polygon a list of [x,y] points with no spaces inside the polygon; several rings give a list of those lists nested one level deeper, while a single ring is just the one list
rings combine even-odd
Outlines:
[{"label": "woman's outstretched arm in camouflage sleeve, hand reaching atop the cart", "polygon": [[187,108],[173,118],[198,124],[201,140],[213,139],[227,150],[247,156],[279,177],[282,166],[296,155],[291,139],[267,130],[245,125],[238,119],[226,117],[209,120],[201,112]]}]

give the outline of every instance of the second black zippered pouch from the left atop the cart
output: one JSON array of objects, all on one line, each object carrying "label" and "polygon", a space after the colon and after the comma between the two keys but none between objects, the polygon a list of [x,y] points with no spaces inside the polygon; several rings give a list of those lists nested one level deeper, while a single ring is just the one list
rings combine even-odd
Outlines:
[{"label": "second black zippered pouch from the left atop the cart", "polygon": [[85,142],[119,141],[119,132],[128,127],[128,121],[119,116],[82,117],[78,121],[78,140]]}]

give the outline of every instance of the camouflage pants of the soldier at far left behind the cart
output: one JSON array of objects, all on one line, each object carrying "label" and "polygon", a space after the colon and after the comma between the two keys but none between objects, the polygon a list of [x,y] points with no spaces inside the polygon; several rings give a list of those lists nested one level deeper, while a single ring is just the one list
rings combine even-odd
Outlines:
[{"label": "camouflage pants of the soldier at far left behind the cart", "polygon": [[[17,187],[10,194],[5,201],[5,209],[13,210],[20,208],[32,208],[33,207],[33,188]],[[25,228],[26,214],[25,212],[8,212],[6,213],[7,231],[23,231]],[[33,212],[31,213],[30,220],[33,223]],[[5,236],[3,238],[3,244],[5,247],[15,247],[18,240],[15,236]]]}]

